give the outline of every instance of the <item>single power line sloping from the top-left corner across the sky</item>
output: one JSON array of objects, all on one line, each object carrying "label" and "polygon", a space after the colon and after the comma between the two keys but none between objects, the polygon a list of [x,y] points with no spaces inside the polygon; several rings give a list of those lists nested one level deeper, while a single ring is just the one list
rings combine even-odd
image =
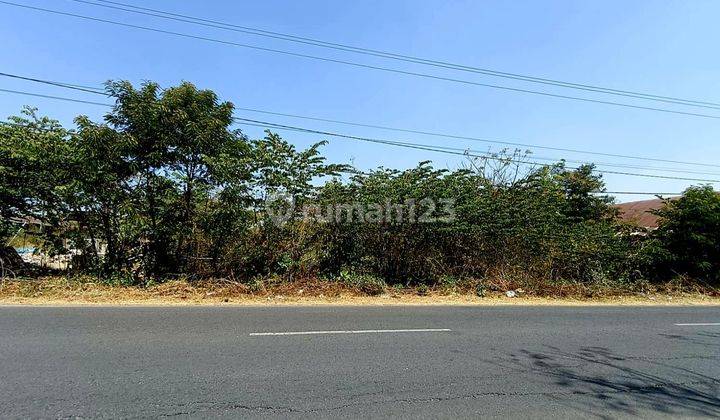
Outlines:
[{"label": "single power line sloping from the top-left corner across the sky", "polygon": [[158,29],[158,28],[153,28],[153,27],[148,27],[148,26],[141,26],[141,25],[117,22],[117,21],[108,20],[108,19],[101,19],[101,18],[96,18],[96,17],[91,17],[91,16],[78,15],[75,13],[68,13],[68,12],[62,12],[62,11],[58,11],[58,10],[45,9],[45,8],[41,8],[41,7],[28,6],[28,5],[13,3],[13,2],[4,1],[4,0],[0,1],[0,4],[5,4],[5,5],[9,5],[9,6],[14,6],[14,7],[20,7],[20,8],[30,9],[30,10],[35,10],[35,11],[41,11],[41,12],[46,12],[46,13],[52,13],[52,14],[57,14],[57,15],[62,15],[62,16],[70,16],[70,17],[75,17],[78,19],[84,19],[84,20],[88,20],[88,21],[107,23],[107,24],[122,26],[122,27],[126,27],[126,28],[140,29],[140,30],[149,31],[149,32],[173,35],[173,36],[187,38],[187,39],[195,39],[195,40],[199,40],[199,41],[213,42],[213,43],[217,43],[217,44],[230,45],[230,46],[234,46],[234,47],[248,48],[248,49],[253,49],[253,50],[257,50],[257,51],[283,54],[283,55],[292,56],[292,57],[299,57],[299,58],[305,58],[305,59],[317,60],[317,61],[323,61],[323,62],[329,62],[329,63],[343,64],[343,65],[352,66],[352,67],[356,67],[356,68],[377,70],[377,71],[383,71],[383,72],[388,72],[388,73],[402,74],[402,75],[406,75],[406,76],[415,76],[415,77],[420,77],[420,78],[425,78],[425,79],[441,80],[441,81],[459,83],[459,84],[471,85],[471,86],[488,87],[488,88],[506,90],[506,91],[511,91],[511,92],[528,93],[528,94],[540,95],[540,96],[546,96],[546,97],[552,97],[552,98],[558,98],[558,99],[569,99],[569,100],[581,101],[581,102],[587,102],[587,103],[612,105],[612,106],[618,106],[618,107],[623,107],[623,108],[642,109],[642,110],[646,110],[646,111],[656,111],[656,112],[663,112],[663,113],[670,113],[670,114],[677,114],[677,115],[720,119],[720,116],[718,116],[718,115],[700,114],[700,113],[695,113],[695,112],[677,111],[677,110],[656,108],[656,107],[650,107],[650,106],[632,105],[632,104],[627,104],[627,103],[622,103],[622,102],[581,98],[581,97],[569,96],[569,95],[559,95],[559,94],[554,94],[554,93],[549,93],[549,92],[514,88],[514,87],[509,87],[509,86],[493,85],[493,84],[489,84],[489,83],[473,82],[470,80],[437,76],[437,75],[413,72],[413,71],[408,71],[408,70],[400,70],[400,69],[395,69],[395,68],[390,68],[390,67],[374,66],[374,65],[370,65],[370,64],[362,64],[362,63],[357,63],[357,62],[353,62],[353,61],[320,57],[320,56],[315,56],[315,55],[310,55],[310,54],[302,54],[302,53],[296,53],[296,52],[291,52],[291,51],[260,47],[257,45],[243,44],[243,43],[239,43],[239,42],[221,40],[221,39],[217,39],[217,38],[210,38],[210,37],[205,37],[205,36],[200,36],[200,35],[191,35],[191,34],[187,34],[187,33],[169,31],[169,30],[165,30],[165,29]]}]

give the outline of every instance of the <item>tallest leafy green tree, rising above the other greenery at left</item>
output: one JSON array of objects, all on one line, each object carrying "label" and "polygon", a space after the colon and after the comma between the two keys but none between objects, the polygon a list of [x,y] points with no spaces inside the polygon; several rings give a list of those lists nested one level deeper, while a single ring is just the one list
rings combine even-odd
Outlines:
[{"label": "tallest leafy green tree, rising above the other greenery at left", "polygon": [[116,104],[105,120],[132,142],[128,160],[143,202],[148,274],[182,270],[193,252],[188,238],[197,227],[197,200],[216,185],[212,162],[244,141],[229,129],[233,105],[190,83],[162,90],[113,82],[107,90]]}]

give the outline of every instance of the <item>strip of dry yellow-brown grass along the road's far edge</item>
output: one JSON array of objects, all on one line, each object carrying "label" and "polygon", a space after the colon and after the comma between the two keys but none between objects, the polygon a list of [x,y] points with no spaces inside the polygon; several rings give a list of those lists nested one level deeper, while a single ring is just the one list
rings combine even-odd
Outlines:
[{"label": "strip of dry yellow-brown grass along the road's far edge", "polygon": [[[556,284],[524,291],[508,298],[500,286],[490,284],[485,297],[477,297],[470,284],[432,289],[422,296],[414,288],[393,288],[380,296],[365,296],[355,288],[322,280],[293,283],[258,282],[253,285],[215,280],[170,281],[148,287],[114,286],[89,278],[47,277],[6,280],[0,287],[0,304],[29,305],[720,305],[720,297],[706,291],[668,283],[643,285],[638,290],[603,288],[602,285]],[[511,285],[503,285],[508,287]],[[423,291],[424,292],[424,291]]]}]

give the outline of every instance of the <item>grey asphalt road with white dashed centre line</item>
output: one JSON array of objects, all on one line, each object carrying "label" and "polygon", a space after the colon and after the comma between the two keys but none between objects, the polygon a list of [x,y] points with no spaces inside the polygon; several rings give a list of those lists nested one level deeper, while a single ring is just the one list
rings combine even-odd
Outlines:
[{"label": "grey asphalt road with white dashed centre line", "polygon": [[720,308],[0,307],[0,416],[718,417],[714,323]]}]

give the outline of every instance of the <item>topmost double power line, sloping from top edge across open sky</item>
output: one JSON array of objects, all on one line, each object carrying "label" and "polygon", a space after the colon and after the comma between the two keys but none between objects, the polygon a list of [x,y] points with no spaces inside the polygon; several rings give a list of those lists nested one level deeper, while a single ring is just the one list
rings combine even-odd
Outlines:
[{"label": "topmost double power line, sloping from top edge across open sky", "polygon": [[[630,98],[636,98],[636,99],[644,99],[644,100],[679,104],[679,105],[685,105],[685,106],[695,106],[695,107],[709,108],[709,109],[720,109],[720,103],[716,103],[716,102],[675,98],[675,97],[670,97],[670,96],[661,96],[661,95],[655,95],[655,94],[649,94],[649,93],[612,89],[612,88],[606,88],[606,87],[601,87],[601,86],[565,82],[565,81],[561,81],[561,80],[553,80],[553,79],[548,79],[548,78],[528,76],[528,75],[522,75],[522,74],[517,74],[517,73],[509,73],[509,72],[503,72],[503,71],[497,71],[497,70],[491,70],[491,69],[484,69],[484,68],[479,68],[479,67],[450,63],[450,62],[446,62],[446,61],[431,60],[431,59],[414,57],[414,56],[405,55],[405,54],[398,54],[398,53],[392,53],[392,52],[388,52],[388,51],[356,47],[356,46],[351,46],[351,45],[347,45],[347,44],[340,44],[340,43],[322,41],[322,40],[318,40],[318,39],[302,37],[302,36],[297,36],[297,35],[273,32],[273,31],[268,31],[268,30],[264,30],[264,29],[251,28],[251,27],[247,27],[247,26],[235,25],[235,24],[221,22],[221,21],[217,21],[217,20],[203,19],[203,18],[198,18],[195,16],[183,15],[183,14],[179,14],[179,13],[172,13],[172,12],[167,12],[167,11],[163,11],[163,10],[151,9],[151,8],[147,8],[147,7],[135,6],[132,4],[120,3],[120,2],[115,2],[115,1],[108,1],[108,0],[96,0],[96,2],[91,2],[91,1],[87,1],[87,0],[72,0],[72,1],[77,2],[77,3],[88,4],[88,5],[92,5],[92,6],[96,6],[96,7],[110,8],[110,9],[121,10],[121,11],[129,12],[129,13],[136,13],[136,14],[145,15],[145,16],[152,16],[152,17],[157,17],[157,18],[161,18],[161,19],[173,20],[173,21],[177,21],[177,22],[190,23],[193,25],[200,25],[200,26],[205,26],[205,27],[210,27],[210,28],[223,29],[223,30],[227,30],[227,31],[256,35],[256,36],[272,38],[272,39],[280,39],[280,40],[284,40],[284,41],[288,41],[288,42],[295,42],[295,43],[304,44],[304,45],[313,45],[313,46],[322,47],[322,48],[329,48],[329,49],[334,49],[334,50],[339,50],[339,51],[352,52],[352,53],[356,53],[356,54],[363,54],[363,55],[369,55],[369,56],[375,56],[375,57],[382,57],[382,58],[387,58],[387,59],[392,59],[392,60],[397,60],[397,61],[422,64],[422,65],[427,65],[427,66],[432,66],[432,67],[464,71],[464,72],[470,72],[470,73],[476,73],[476,74],[483,74],[483,75],[494,76],[494,77],[502,77],[502,78],[507,78],[507,79],[522,80],[522,81],[526,81],[526,82],[540,83],[540,84],[545,84],[545,85],[577,89],[577,90],[583,90],[583,91],[589,91],[589,92],[597,92],[597,93],[603,93],[603,94],[608,94],[608,95],[624,96],[624,97],[630,97]],[[104,4],[98,4],[98,3],[104,3]],[[122,6],[122,7],[119,7],[119,6]]]}]

